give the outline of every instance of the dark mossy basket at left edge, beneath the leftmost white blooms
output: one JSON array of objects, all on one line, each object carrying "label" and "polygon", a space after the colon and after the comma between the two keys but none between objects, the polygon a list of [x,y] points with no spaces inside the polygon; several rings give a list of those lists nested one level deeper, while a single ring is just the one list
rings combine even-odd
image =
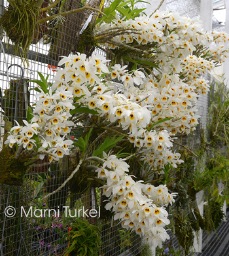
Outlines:
[{"label": "dark mossy basket at left edge, beneath the leftmost white blooms", "polygon": [[0,183],[21,186],[26,174],[24,162],[14,158],[15,149],[4,145],[0,152]]}]

